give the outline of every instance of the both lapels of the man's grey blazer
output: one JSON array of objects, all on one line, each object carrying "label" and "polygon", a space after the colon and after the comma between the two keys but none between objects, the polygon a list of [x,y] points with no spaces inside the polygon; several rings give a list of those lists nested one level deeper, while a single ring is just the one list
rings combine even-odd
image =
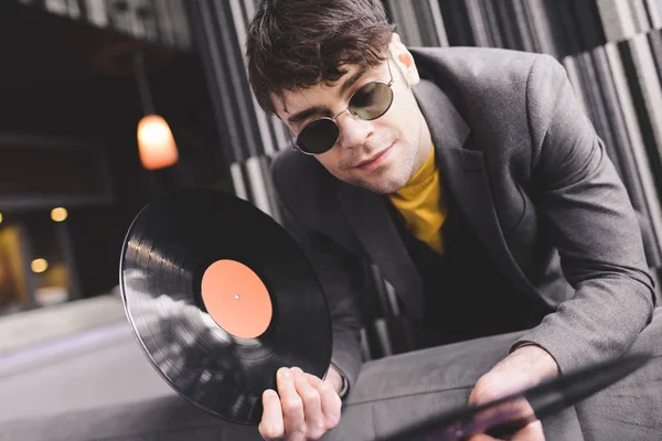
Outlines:
[{"label": "both lapels of the man's grey blazer", "polygon": [[[534,292],[510,254],[499,225],[483,153],[471,149],[471,131],[448,97],[421,80],[414,95],[428,123],[441,181],[457,200],[476,234],[501,269],[525,292]],[[384,279],[418,319],[423,318],[424,287],[395,226],[384,196],[341,184],[338,197],[361,245]]]}]

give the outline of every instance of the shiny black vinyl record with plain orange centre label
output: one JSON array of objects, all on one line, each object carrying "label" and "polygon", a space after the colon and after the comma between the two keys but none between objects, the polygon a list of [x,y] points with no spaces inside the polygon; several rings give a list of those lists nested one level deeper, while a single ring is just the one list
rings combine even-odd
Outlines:
[{"label": "shiny black vinyl record with plain orange centre label", "polygon": [[323,378],[329,311],[298,244],[233,195],[190,189],[147,205],[120,260],[127,316],[147,357],[182,397],[257,424],[281,366]]}]

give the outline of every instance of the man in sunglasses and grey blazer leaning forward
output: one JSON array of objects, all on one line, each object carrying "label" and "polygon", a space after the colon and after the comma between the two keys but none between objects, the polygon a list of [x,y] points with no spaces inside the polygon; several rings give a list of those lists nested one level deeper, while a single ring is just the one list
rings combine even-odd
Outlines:
[{"label": "man in sunglasses and grey blazer leaning forward", "polygon": [[[375,390],[401,380],[451,388],[407,377],[416,366],[473,369],[468,402],[435,402],[484,404],[621,356],[652,321],[636,214],[562,65],[502,50],[407,49],[393,31],[378,0],[265,1],[249,28],[255,96],[295,139],[274,182],[334,331],[323,381],[284,368],[278,394],[265,391],[268,440],[359,440],[362,426],[417,411],[388,409]],[[364,367],[357,381],[362,259],[394,286],[428,349]],[[501,340],[480,338],[490,335]],[[380,380],[363,390],[374,406],[348,420],[359,410],[341,412],[343,402],[361,401],[373,374]],[[554,439],[601,435],[579,423],[555,426]],[[512,439],[549,430],[536,421]]]}]

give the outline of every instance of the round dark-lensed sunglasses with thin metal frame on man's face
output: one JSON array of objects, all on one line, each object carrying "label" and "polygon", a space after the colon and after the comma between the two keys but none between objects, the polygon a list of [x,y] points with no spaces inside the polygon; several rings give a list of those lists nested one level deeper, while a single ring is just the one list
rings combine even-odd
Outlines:
[{"label": "round dark-lensed sunglasses with thin metal frame on man's face", "polygon": [[321,154],[335,146],[338,137],[340,137],[340,128],[335,119],[350,111],[352,117],[364,121],[372,121],[386,114],[393,104],[393,74],[391,72],[391,63],[388,66],[388,83],[371,82],[366,83],[356,89],[350,97],[348,107],[333,118],[322,117],[308,122],[299,131],[297,139],[292,141],[293,147],[306,154]]}]

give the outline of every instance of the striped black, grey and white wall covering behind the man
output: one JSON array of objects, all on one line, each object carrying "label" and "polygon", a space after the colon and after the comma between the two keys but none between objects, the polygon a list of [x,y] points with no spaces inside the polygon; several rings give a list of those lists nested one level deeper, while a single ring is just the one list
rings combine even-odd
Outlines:
[{"label": "striped black, grey and white wall covering behind the man", "polygon": [[[280,218],[269,165],[290,148],[289,132],[257,106],[244,60],[246,26],[258,0],[19,1],[197,51],[234,191]],[[503,47],[557,58],[648,225],[650,266],[662,266],[662,0],[383,2],[409,46]],[[376,268],[370,270],[376,300],[372,325],[363,330],[372,342],[364,355],[405,351],[403,331],[393,325],[398,316],[393,289]]]}]

